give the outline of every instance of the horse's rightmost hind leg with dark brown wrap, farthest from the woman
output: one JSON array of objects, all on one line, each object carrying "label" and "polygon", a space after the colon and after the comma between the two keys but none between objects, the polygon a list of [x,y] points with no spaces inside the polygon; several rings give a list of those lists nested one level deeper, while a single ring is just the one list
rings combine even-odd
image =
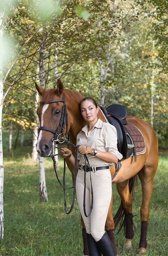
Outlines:
[{"label": "horse's rightmost hind leg with dark brown wrap, farthest from the woman", "polygon": [[140,255],[145,255],[147,241],[147,228],[149,217],[149,202],[152,196],[153,190],[153,178],[157,170],[157,163],[153,163],[153,167],[144,165],[142,170],[138,172],[138,177],[142,186],[142,205],[140,209],[141,215],[141,238],[140,238]]}]

